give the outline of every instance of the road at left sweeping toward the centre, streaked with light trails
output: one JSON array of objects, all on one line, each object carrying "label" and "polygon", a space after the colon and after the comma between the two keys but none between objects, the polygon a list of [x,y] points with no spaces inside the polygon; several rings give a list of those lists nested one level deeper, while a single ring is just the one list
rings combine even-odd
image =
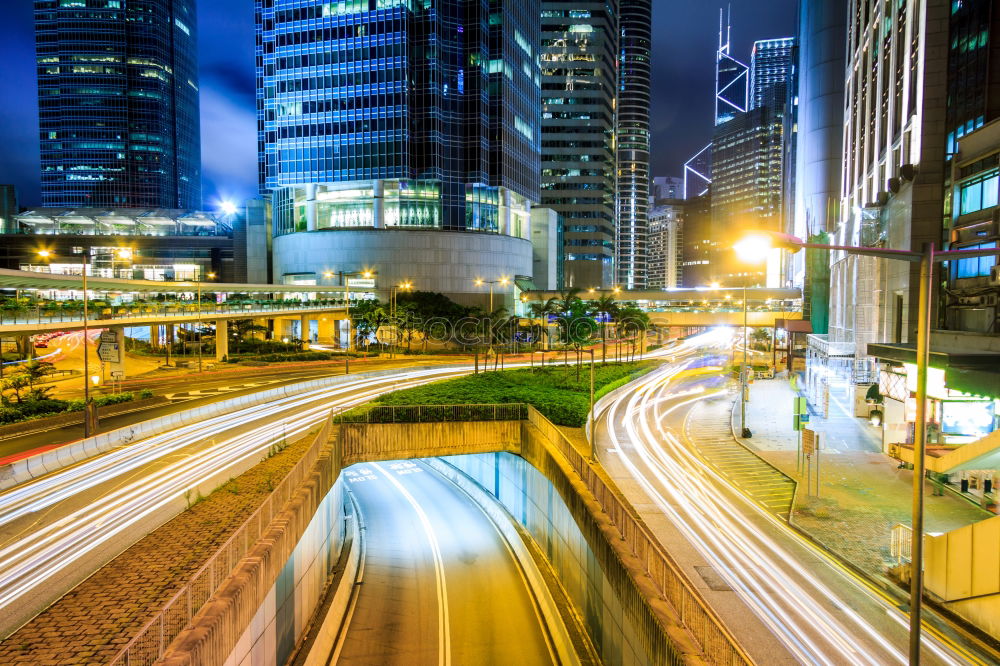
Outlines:
[{"label": "road at left sweeping toward the centre, streaked with light trails", "polygon": [[467,371],[358,377],[139,440],[0,494],[0,636],[182,511],[192,489],[238,475],[331,409]]}]

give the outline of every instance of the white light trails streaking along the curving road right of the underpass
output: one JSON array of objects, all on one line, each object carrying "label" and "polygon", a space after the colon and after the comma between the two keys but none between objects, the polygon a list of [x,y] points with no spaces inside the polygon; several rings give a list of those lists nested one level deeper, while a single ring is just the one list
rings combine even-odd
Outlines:
[{"label": "white light trails streaking along the curving road right of the underpass", "polygon": [[[693,350],[691,350],[693,351]],[[730,487],[729,481],[698,458],[666,424],[678,409],[704,400],[687,391],[673,394],[671,382],[689,361],[659,370],[610,406],[607,437],[631,475],[701,556],[803,663],[906,663],[905,626],[887,637],[851,606],[862,596],[869,616],[899,609],[873,594],[825,554],[803,542],[787,525]],[[616,426],[624,429],[619,437]],[[769,529],[759,527],[766,521]],[[772,534],[777,534],[772,538]],[[828,567],[821,580],[788,551],[794,543],[812,551]],[[841,587],[843,586],[843,587]],[[834,591],[836,589],[836,592]],[[941,663],[963,663],[936,640],[927,649]]]}]

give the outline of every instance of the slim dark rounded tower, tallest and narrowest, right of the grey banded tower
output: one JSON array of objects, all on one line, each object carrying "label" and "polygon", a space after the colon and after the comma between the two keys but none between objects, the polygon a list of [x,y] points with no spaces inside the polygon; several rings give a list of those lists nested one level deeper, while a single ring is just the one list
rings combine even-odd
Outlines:
[{"label": "slim dark rounded tower, tallest and narrowest, right of the grey banded tower", "polygon": [[620,5],[618,40],[618,151],[616,206],[617,282],[625,289],[646,285],[649,206],[649,84],[652,2]]}]

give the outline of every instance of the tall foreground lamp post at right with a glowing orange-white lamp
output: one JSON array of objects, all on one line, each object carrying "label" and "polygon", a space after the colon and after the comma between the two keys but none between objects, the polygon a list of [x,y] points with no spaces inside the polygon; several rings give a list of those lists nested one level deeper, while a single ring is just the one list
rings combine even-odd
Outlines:
[{"label": "tall foreground lamp post at right with a glowing orange-white lamp", "polygon": [[894,259],[920,264],[920,287],[917,304],[917,413],[913,437],[913,528],[910,544],[910,664],[920,663],[920,621],[923,605],[923,550],[924,550],[924,474],[927,450],[927,367],[930,361],[931,288],[934,264],[942,261],[1000,256],[1000,248],[976,250],[935,250],[934,243],[926,243],[923,250],[894,250],[889,248],[858,247],[854,245],[827,245],[805,243],[787,234],[757,232],[736,244],[742,255],[760,256],[771,248],[798,252],[802,248],[833,250],[847,254]]}]

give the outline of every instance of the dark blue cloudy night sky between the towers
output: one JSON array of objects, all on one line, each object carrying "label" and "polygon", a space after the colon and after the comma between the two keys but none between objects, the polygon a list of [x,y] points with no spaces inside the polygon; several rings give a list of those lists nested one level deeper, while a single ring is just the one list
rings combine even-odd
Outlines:
[{"label": "dark blue cloudy night sky between the towers", "polygon": [[[39,174],[32,3],[3,5],[0,183],[16,185],[21,204],[34,206]],[[720,6],[653,0],[653,175],[681,175],[684,161],[711,136]],[[257,191],[253,2],[199,0],[198,13],[203,193],[211,207]],[[795,0],[734,0],[732,23],[732,53],[747,62],[754,40],[794,34]]]}]

